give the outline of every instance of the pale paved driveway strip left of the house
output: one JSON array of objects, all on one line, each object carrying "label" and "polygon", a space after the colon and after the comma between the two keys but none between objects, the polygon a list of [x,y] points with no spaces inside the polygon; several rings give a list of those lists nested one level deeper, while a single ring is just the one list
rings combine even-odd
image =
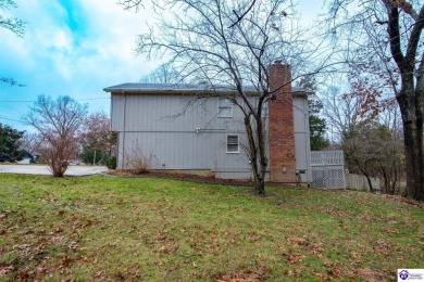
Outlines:
[{"label": "pale paved driveway strip left of the house", "polygon": [[[108,168],[102,166],[70,166],[65,172],[65,176],[90,176],[107,170]],[[51,176],[48,166],[38,166],[38,165],[36,166],[35,165],[0,165],[0,174]]]}]

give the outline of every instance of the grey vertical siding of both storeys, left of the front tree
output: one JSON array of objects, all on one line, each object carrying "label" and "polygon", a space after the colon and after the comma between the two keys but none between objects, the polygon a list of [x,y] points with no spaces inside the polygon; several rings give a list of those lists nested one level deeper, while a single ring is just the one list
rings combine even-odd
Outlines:
[{"label": "grey vertical siding of both storeys, left of the front tree", "polygon": [[[125,102],[126,97],[126,102]],[[119,167],[134,150],[152,156],[152,169],[208,169],[250,174],[247,156],[226,153],[228,133],[244,136],[242,113],[217,117],[217,98],[112,95],[113,130],[120,131]],[[188,104],[192,104],[187,107]],[[197,128],[200,130],[197,131]],[[232,175],[233,174],[233,175]]]}]

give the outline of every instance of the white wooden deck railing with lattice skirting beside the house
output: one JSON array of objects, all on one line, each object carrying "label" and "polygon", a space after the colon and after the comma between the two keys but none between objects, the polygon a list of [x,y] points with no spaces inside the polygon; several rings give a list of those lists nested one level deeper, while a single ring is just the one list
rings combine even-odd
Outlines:
[{"label": "white wooden deck railing with lattice skirting beside the house", "polygon": [[311,152],[312,187],[345,189],[345,166],[342,151]]}]

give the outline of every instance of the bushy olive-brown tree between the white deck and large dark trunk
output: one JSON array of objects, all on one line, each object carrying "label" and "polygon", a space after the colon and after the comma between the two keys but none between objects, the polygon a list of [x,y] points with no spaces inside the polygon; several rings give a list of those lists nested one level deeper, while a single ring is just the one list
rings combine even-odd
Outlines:
[{"label": "bushy olive-brown tree between the white deck and large dark trunk", "polygon": [[379,176],[383,192],[394,194],[403,171],[396,108],[379,110],[375,115],[372,107],[370,117],[361,102],[362,97],[358,94],[340,94],[336,88],[328,90],[324,114],[331,126],[333,145],[344,150],[349,170],[365,176],[370,188],[371,176]]}]

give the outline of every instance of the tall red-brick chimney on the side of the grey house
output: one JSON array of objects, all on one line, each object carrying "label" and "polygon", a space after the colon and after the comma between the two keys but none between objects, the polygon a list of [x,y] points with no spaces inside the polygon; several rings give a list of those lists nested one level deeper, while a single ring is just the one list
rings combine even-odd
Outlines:
[{"label": "tall red-brick chimney on the side of the grey house", "polygon": [[275,62],[269,73],[271,90],[277,89],[269,104],[270,177],[274,182],[296,182],[291,69]]}]

